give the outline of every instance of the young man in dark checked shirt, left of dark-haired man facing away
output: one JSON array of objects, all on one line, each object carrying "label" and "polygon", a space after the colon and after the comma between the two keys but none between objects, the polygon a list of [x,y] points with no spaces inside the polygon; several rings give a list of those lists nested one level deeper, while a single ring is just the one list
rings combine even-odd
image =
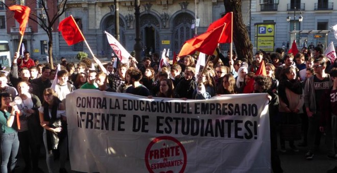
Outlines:
[{"label": "young man in dark checked shirt, left of dark-haired man facing away", "polygon": [[117,73],[114,73],[113,75],[108,75],[109,85],[111,89],[117,90],[119,84],[125,82],[125,73],[127,70],[127,64],[119,63]]}]

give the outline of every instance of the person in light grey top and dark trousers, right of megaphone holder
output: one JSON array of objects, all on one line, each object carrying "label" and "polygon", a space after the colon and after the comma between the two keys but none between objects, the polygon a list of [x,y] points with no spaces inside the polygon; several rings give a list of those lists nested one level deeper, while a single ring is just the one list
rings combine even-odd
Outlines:
[{"label": "person in light grey top and dark trousers, right of megaphone holder", "polygon": [[19,92],[18,96],[22,99],[22,103],[18,105],[22,112],[19,118],[20,130],[18,130],[18,137],[22,157],[26,164],[23,172],[31,170],[33,172],[43,172],[38,166],[41,147],[40,138],[42,136],[38,108],[41,107],[41,102],[36,95],[29,93],[27,82],[19,82],[17,90]]}]

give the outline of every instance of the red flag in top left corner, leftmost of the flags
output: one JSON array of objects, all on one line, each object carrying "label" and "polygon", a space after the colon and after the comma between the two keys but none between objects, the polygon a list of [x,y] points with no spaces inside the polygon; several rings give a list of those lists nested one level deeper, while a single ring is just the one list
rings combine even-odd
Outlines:
[{"label": "red flag in top left corner, leftmost of the flags", "polygon": [[8,7],[9,10],[14,11],[14,18],[17,22],[20,23],[19,26],[19,32],[21,35],[25,33],[26,25],[29,18],[29,13],[31,12],[31,9],[27,6],[19,6],[19,5],[13,5],[11,7]]}]

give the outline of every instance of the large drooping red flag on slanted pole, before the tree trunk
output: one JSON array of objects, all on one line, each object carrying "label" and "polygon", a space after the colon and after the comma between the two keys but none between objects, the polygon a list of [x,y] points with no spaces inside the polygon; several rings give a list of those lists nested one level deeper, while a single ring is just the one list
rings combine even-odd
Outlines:
[{"label": "large drooping red flag on slanted pole, before the tree trunk", "polygon": [[212,30],[203,33],[195,38],[187,40],[180,50],[179,56],[187,55],[196,50],[205,54],[213,54],[219,40],[222,37],[226,23],[213,28]]}]

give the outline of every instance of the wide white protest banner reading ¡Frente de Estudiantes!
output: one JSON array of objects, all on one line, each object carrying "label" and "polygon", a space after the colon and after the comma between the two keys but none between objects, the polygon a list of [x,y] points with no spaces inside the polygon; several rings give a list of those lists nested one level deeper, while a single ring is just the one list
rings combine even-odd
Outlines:
[{"label": "wide white protest banner reading \u00a1Frente de Estudiantes!", "polygon": [[69,156],[82,172],[271,172],[266,94],[148,99],[67,95]]}]

